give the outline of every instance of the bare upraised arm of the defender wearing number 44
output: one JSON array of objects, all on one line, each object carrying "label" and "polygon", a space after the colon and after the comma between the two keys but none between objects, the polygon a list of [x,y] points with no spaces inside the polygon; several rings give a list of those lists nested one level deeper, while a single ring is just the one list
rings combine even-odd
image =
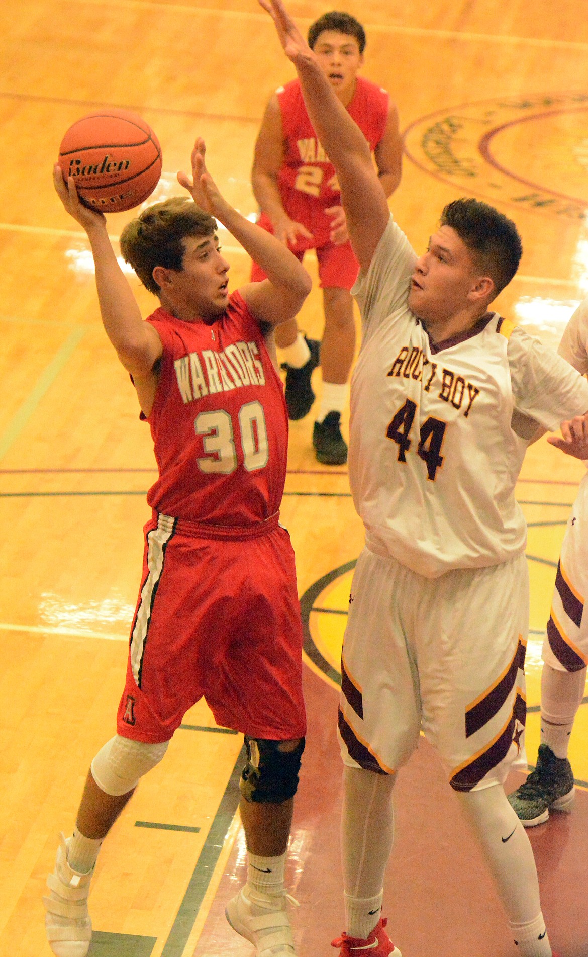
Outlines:
[{"label": "bare upraised arm of the defender wearing number 44", "polygon": [[361,268],[367,269],[390,217],[369,146],[359,126],[338,100],[282,0],[259,0],[259,3],[272,16],[284,53],[294,63],[308,115],[337,172],[354,253]]}]

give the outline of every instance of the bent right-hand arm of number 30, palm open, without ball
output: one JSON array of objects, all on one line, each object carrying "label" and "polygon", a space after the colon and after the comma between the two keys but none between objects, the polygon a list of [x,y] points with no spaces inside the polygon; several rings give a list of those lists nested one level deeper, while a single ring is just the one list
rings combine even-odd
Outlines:
[{"label": "bent right-hand arm of number 30, palm open, without ball", "polygon": [[233,210],[207,171],[205,152],[204,140],[198,139],[192,150],[192,178],[179,172],[178,181],[202,210],[229,230],[268,277],[240,289],[251,315],[258,323],[285,323],[299,311],[311,291],[312,279],[286,246]]}]

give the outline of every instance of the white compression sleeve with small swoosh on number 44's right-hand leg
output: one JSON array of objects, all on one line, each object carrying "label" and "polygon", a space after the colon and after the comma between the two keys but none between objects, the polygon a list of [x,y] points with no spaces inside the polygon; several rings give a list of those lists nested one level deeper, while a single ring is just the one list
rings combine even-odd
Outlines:
[{"label": "white compression sleeve with small swoosh on number 44's right-hand leg", "polygon": [[[541,915],[533,850],[501,785],[460,793],[468,823],[490,867],[513,933],[529,927],[533,941],[518,940],[521,957],[551,957]],[[538,933],[534,934],[534,927]],[[525,935],[526,936],[526,935]]]}]

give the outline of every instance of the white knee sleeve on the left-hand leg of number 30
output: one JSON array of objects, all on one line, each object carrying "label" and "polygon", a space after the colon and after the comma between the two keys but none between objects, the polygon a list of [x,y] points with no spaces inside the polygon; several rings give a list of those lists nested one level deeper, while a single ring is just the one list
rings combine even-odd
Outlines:
[{"label": "white knee sleeve on the left-hand leg of number 30", "polygon": [[143,774],[159,765],[169,742],[146,745],[116,734],[100,750],[92,762],[92,777],[98,788],[113,797],[128,794],[139,784]]}]

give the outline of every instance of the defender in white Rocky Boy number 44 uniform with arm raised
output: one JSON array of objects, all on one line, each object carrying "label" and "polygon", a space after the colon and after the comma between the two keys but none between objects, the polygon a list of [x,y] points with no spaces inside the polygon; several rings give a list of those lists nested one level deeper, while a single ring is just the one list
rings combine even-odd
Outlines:
[{"label": "defender in white Rocky Boy number 44 uniform with arm raised", "polygon": [[282,0],[260,3],[336,169],[360,265],[349,462],[366,547],[341,668],[346,930],[334,945],[340,957],[400,954],[382,883],[396,772],[423,727],[488,859],[513,953],[552,957],[531,845],[502,788],[525,717],[526,536],[513,487],[537,422],[564,422],[570,450],[586,441],[588,383],[489,311],[518,266],[514,224],[458,200],[417,258]]}]

